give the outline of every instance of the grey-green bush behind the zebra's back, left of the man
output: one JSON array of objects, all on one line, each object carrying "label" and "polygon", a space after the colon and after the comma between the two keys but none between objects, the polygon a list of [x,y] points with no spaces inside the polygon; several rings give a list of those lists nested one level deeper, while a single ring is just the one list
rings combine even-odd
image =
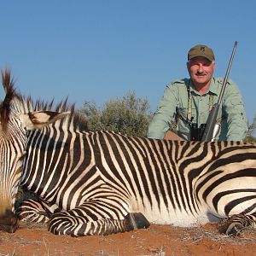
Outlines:
[{"label": "grey-green bush behind the zebra's back, left of the man", "polygon": [[116,131],[137,137],[147,136],[153,116],[148,100],[137,98],[135,92],[111,99],[102,107],[97,107],[96,102],[85,101],[81,113],[87,119],[90,131]]}]

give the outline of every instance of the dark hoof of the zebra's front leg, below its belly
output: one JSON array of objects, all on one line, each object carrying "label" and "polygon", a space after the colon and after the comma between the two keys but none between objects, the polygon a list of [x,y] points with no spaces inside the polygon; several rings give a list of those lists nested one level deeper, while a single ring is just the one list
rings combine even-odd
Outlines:
[{"label": "dark hoof of the zebra's front leg, below its belly", "polygon": [[148,229],[148,219],[141,212],[130,212],[125,216],[129,230]]}]

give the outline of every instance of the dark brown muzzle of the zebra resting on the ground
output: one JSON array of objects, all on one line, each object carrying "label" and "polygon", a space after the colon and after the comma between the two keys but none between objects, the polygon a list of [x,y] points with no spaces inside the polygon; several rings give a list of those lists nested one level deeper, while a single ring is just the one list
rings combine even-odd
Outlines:
[{"label": "dark brown muzzle of the zebra resting on the ground", "polygon": [[8,233],[15,233],[18,226],[18,218],[14,212],[6,210],[5,213],[0,216],[0,230]]}]

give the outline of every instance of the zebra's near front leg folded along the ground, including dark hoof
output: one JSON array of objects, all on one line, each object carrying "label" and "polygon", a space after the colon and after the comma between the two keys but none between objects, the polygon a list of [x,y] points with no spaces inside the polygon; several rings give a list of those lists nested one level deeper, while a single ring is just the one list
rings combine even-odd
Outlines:
[{"label": "zebra's near front leg folded along the ground, including dark hoof", "polygon": [[55,235],[90,236],[110,235],[125,231],[146,229],[148,219],[140,212],[130,212],[123,219],[99,218],[84,222],[73,211],[55,213],[49,220],[49,231]]}]

